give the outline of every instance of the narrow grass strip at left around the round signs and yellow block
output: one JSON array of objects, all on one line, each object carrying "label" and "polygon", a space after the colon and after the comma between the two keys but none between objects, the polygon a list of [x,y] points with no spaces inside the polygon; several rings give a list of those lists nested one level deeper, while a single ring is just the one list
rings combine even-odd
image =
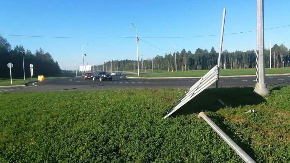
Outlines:
[{"label": "narrow grass strip at left around the round signs and yellow block", "polygon": [[[71,76],[75,76],[75,73],[61,74],[59,76],[45,77],[45,79],[63,78],[63,77],[71,77]],[[81,74],[78,74],[78,76],[81,76]],[[22,79],[12,79],[12,85],[23,85],[23,83],[37,80],[37,78],[32,78],[32,80],[31,80],[31,76],[29,76],[29,77],[26,78],[25,80],[23,80],[23,78]],[[0,86],[6,86],[6,85],[11,85],[10,78],[9,79],[0,79]]]}]

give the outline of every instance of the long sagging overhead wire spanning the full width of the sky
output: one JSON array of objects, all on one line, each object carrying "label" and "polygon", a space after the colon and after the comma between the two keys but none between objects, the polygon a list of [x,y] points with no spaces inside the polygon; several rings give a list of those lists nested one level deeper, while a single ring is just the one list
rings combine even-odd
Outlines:
[{"label": "long sagging overhead wire spanning the full width of the sky", "polygon": [[[266,28],[264,30],[270,30],[270,29],[275,29],[275,28],[283,28],[283,27],[289,27],[289,26],[290,25],[284,25],[284,26],[280,26],[280,27]],[[239,34],[239,33],[248,33],[248,32],[255,32],[255,31],[257,31],[257,30],[227,33],[227,34],[224,34],[224,35]],[[0,35],[3,35],[3,36],[23,36],[23,37],[43,37],[43,38],[61,38],[61,39],[128,39],[128,38],[135,38],[135,37],[59,37],[59,36],[32,36],[32,35],[17,35],[17,34],[0,34]],[[220,36],[220,34],[202,35],[202,36],[139,37],[139,38],[171,39],[171,38],[193,38],[193,37],[209,37],[209,36]]]}]

